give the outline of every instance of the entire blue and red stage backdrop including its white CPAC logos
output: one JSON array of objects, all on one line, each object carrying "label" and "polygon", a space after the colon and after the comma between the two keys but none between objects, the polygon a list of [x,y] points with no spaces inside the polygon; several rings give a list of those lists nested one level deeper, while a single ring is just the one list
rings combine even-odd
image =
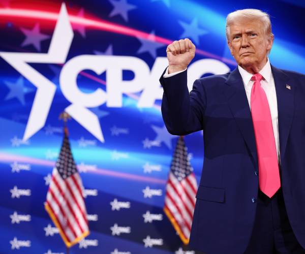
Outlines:
[{"label": "entire blue and red stage backdrop including its white CPAC logos", "polygon": [[[182,246],[163,212],[177,141],[161,116],[158,80],[167,66],[166,46],[186,37],[195,43],[190,86],[196,78],[227,73],[236,64],[226,44],[226,15],[258,8],[271,15],[271,64],[305,73],[305,4],[65,3],[69,18],[58,16],[62,1],[0,1],[0,252],[66,251],[44,210],[63,139],[58,116],[66,110],[90,228],[70,253],[195,253]],[[185,141],[198,181],[202,132]]]}]

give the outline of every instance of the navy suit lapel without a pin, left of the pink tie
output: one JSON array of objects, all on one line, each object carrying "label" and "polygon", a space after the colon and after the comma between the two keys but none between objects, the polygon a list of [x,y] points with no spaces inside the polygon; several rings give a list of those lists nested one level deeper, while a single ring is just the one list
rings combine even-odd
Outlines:
[{"label": "navy suit lapel without a pin, left of the pink tie", "polygon": [[253,156],[255,164],[258,166],[251,111],[238,68],[229,75],[226,84],[224,93],[227,97],[229,108]]}]

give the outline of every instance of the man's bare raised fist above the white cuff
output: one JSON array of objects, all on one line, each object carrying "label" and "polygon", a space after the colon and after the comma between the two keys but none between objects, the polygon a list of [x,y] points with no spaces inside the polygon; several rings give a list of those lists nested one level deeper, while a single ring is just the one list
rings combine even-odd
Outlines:
[{"label": "man's bare raised fist above the white cuff", "polygon": [[188,38],[174,41],[166,48],[168,73],[186,69],[195,56],[196,47]]}]

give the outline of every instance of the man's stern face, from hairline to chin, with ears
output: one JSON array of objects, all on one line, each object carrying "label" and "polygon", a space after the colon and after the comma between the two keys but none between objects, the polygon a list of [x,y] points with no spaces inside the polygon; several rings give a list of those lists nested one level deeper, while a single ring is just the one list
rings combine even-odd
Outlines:
[{"label": "man's stern face, from hairline to chin, with ears", "polygon": [[237,19],[229,26],[228,46],[236,62],[251,73],[259,72],[267,62],[273,38],[265,35],[257,19]]}]

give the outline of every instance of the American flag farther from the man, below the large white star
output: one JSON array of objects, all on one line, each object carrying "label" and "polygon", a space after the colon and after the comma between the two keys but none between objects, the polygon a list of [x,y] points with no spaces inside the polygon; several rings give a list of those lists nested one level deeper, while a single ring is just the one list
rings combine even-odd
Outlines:
[{"label": "American flag farther from the man, below the large white star", "polygon": [[45,209],[58,228],[67,247],[89,234],[83,200],[82,181],[77,171],[68,139],[68,130],[52,172]]}]

